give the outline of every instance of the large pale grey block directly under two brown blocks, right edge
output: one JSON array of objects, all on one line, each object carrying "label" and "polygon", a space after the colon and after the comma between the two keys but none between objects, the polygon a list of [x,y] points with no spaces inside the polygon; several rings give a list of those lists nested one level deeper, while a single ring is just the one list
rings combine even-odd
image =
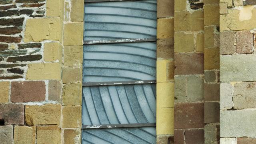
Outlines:
[{"label": "large pale grey block directly under two brown blocks, right edge", "polygon": [[220,56],[220,81],[256,81],[255,62],[256,56],[252,54]]}]

